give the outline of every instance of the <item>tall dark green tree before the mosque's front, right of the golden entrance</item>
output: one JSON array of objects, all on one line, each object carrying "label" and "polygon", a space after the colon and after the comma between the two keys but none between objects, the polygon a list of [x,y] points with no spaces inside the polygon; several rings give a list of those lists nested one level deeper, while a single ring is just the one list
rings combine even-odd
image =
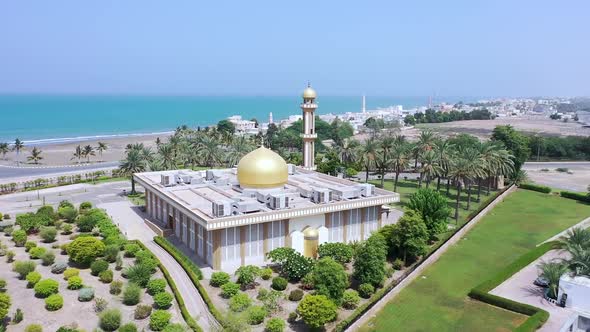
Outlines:
[{"label": "tall dark green tree before the mosque's front, right of the golden entrance", "polygon": [[374,233],[357,249],[353,277],[361,284],[379,286],[385,277],[387,243],[380,233]]}]

